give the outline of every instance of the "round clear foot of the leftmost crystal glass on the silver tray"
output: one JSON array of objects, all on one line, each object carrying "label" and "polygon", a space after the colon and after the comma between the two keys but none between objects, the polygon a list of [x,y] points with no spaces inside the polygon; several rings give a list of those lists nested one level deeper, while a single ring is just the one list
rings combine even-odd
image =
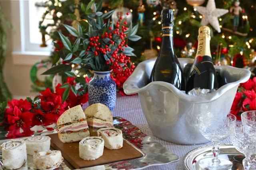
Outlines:
[{"label": "round clear foot of the leftmost crystal glass on the silver tray", "polygon": [[232,168],[232,162],[218,157],[219,161],[214,161],[213,156],[202,158],[196,162],[196,170],[229,170]]}]

